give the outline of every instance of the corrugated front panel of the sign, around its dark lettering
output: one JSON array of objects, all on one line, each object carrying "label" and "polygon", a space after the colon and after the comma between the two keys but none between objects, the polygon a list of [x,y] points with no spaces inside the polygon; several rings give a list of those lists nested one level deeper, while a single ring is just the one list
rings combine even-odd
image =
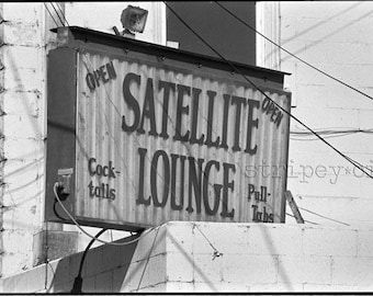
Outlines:
[{"label": "corrugated front panel of the sign, around its dark lettering", "polygon": [[[99,69],[106,62],[113,61],[117,77],[108,83],[100,83],[100,87],[91,91],[86,82],[88,72]],[[289,137],[289,116],[284,114],[281,125],[276,127],[270,121],[270,115],[261,111],[263,95],[247,83],[234,80],[231,77],[219,77],[215,73],[212,76],[203,76],[196,72],[180,71],[172,67],[156,67],[145,62],[139,64],[135,59],[110,59],[99,54],[90,54],[88,52],[78,54],[78,112],[77,112],[77,192],[76,192],[76,209],[75,214],[81,219],[89,218],[98,221],[113,224],[139,224],[139,225],[159,225],[167,220],[213,220],[213,221],[252,221],[251,205],[258,202],[248,201],[248,184],[255,184],[257,190],[260,186],[267,186],[269,200],[267,202],[267,212],[274,213],[274,221],[280,221],[281,200],[285,190],[286,178],[286,157],[287,157],[287,137]],[[242,107],[240,117],[240,147],[241,151],[233,151],[234,126],[236,121],[236,107],[229,106],[227,144],[228,149],[208,148],[205,145],[191,145],[180,143],[172,139],[176,126],[177,94],[170,95],[168,109],[168,135],[167,140],[161,137],[148,135],[149,121],[145,121],[146,133],[137,132],[127,133],[122,129],[122,116],[125,115],[126,121],[132,123],[133,112],[128,109],[123,99],[123,79],[126,73],[134,72],[140,75],[142,82],[138,88],[132,86],[131,92],[138,100],[140,110],[143,111],[144,96],[146,92],[146,81],[151,78],[154,81],[154,99],[156,110],[156,126],[158,134],[162,125],[162,101],[163,91],[158,91],[159,80],[172,82],[176,84],[184,84],[191,88],[201,89],[200,106],[197,110],[197,138],[203,133],[206,138],[207,130],[207,111],[208,100],[207,90],[217,92],[214,101],[214,117],[212,123],[213,140],[222,137],[224,100],[223,94],[244,96],[259,101],[260,109],[253,112],[253,118],[258,117],[259,127],[253,129],[255,144],[258,145],[257,153],[250,156],[242,150],[246,147],[246,128],[248,107]],[[289,95],[285,93],[269,92],[268,93],[282,107],[289,110]],[[189,105],[189,115],[182,117],[182,132],[191,130],[192,100],[184,98],[184,105]],[[214,216],[210,216],[204,210],[202,198],[201,214],[195,212],[195,200],[193,197],[193,213],[188,213],[185,207],[189,201],[189,166],[185,161],[184,184],[180,180],[180,160],[177,170],[177,201],[180,197],[180,190],[183,187],[184,206],[181,210],[174,210],[170,207],[170,193],[165,207],[156,207],[151,201],[150,205],[136,204],[139,190],[139,155],[138,148],[146,148],[145,158],[145,179],[144,179],[144,196],[150,196],[150,166],[155,151],[161,149],[168,155],[171,163],[171,153],[180,156],[192,156],[195,159],[204,159],[203,169],[208,160],[219,162],[219,171],[212,169],[210,175],[208,195],[213,198],[215,183],[223,183],[223,162],[233,163],[236,172],[230,172],[229,181],[234,180],[234,191],[228,190],[228,209],[235,208],[233,218],[222,217],[222,202],[219,209]],[[98,164],[108,166],[112,161],[115,171],[120,171],[116,178],[91,177],[88,170],[88,160],[95,158]],[[171,166],[171,164],[170,164]],[[258,167],[269,166],[269,167]],[[282,169],[281,169],[282,168]],[[275,170],[282,170],[279,177],[265,177],[270,170],[275,174]],[[171,173],[171,179],[173,178]],[[162,194],[165,173],[162,166],[158,164],[158,198]],[[105,183],[111,189],[115,189],[116,197],[111,201],[108,198],[91,197],[89,194],[89,183],[92,181],[95,185]],[[221,191],[222,198],[222,191]],[[151,200],[151,198],[150,198]],[[212,200],[211,200],[212,201]],[[263,203],[259,203],[262,206]]]}]

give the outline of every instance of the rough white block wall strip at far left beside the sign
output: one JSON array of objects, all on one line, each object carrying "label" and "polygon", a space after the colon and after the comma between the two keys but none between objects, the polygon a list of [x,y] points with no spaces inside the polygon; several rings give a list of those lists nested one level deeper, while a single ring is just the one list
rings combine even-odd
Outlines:
[{"label": "rough white block wall strip at far left beside the sign", "polygon": [[32,266],[33,235],[43,227],[46,36],[43,3],[1,5],[1,273],[10,275]]}]

